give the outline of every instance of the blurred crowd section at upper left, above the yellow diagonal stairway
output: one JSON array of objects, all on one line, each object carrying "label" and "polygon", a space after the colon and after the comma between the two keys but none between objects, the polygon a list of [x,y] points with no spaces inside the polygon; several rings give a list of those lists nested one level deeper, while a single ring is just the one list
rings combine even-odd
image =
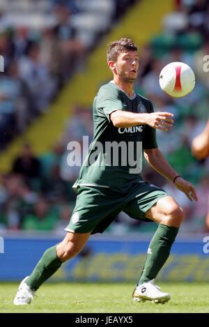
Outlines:
[{"label": "blurred crowd section at upper left, above the yellow diagonal stairway", "polygon": [[84,68],[86,56],[102,34],[132,2],[0,1],[0,54],[4,61],[0,151],[47,110],[63,84]]}]

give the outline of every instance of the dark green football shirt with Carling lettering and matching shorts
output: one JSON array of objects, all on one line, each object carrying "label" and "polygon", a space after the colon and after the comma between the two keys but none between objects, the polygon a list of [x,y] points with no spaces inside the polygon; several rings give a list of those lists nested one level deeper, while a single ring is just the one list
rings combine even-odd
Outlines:
[{"label": "dark green football shirt with Carling lettering and matching shorts", "polygon": [[73,186],[77,201],[66,231],[102,233],[121,211],[148,220],[146,211],[167,196],[140,175],[143,149],[157,148],[155,128],[117,128],[109,118],[116,110],[150,113],[153,105],[135,92],[128,96],[114,81],[100,87],[93,101],[94,137]]}]

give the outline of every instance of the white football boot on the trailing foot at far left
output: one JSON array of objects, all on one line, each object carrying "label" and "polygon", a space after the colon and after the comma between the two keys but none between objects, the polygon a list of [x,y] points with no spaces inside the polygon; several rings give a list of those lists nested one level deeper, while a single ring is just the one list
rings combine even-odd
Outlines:
[{"label": "white football boot on the trailing foot at far left", "polygon": [[18,288],[17,294],[14,298],[14,305],[26,305],[30,304],[33,300],[33,296],[35,294],[35,291],[32,291],[30,287],[26,284],[26,279],[29,276],[26,276],[24,280],[20,283],[20,286]]}]

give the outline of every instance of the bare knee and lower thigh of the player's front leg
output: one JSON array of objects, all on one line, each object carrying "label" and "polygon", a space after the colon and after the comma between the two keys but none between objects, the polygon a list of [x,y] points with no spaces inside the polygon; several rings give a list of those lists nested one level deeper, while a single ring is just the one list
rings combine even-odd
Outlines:
[{"label": "bare knee and lower thigh of the player's front leg", "polygon": [[179,227],[183,222],[184,213],[173,197],[167,196],[159,199],[145,216],[158,224]]}]

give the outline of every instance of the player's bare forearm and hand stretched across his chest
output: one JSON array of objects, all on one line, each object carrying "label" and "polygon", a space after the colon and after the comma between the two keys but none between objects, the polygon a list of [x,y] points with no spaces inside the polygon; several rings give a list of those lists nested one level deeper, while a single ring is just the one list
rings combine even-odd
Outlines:
[{"label": "player's bare forearm and hand stretched across his chest", "polygon": [[157,130],[168,130],[173,126],[173,114],[170,112],[151,112],[138,114],[134,112],[126,112],[115,110],[111,112],[110,119],[117,128],[127,128],[137,125],[148,125]]}]

